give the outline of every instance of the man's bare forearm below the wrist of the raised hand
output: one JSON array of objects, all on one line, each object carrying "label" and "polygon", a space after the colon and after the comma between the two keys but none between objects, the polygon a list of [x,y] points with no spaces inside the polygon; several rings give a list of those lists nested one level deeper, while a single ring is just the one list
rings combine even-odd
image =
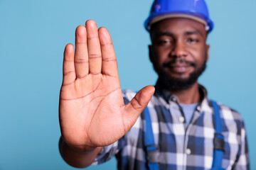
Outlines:
[{"label": "man's bare forearm below the wrist of the raised hand", "polygon": [[59,141],[60,155],[70,166],[85,168],[90,166],[102,147],[72,147],[62,137]]}]

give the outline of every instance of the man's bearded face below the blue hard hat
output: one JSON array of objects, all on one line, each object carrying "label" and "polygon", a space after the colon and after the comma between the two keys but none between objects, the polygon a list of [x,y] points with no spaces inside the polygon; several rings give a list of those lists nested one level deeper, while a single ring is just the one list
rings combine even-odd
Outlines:
[{"label": "man's bearded face below the blue hard hat", "polygon": [[169,18],[151,28],[150,58],[164,88],[178,91],[196,83],[206,69],[209,45],[202,23]]}]

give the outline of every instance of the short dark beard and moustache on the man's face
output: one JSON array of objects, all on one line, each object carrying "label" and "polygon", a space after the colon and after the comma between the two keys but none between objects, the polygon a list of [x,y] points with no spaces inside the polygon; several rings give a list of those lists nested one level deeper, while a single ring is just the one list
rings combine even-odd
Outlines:
[{"label": "short dark beard and moustache on the man's face", "polygon": [[[181,91],[191,88],[193,84],[196,83],[198,77],[206,70],[206,57],[201,67],[192,72],[188,78],[186,79],[178,79],[176,77],[171,77],[167,72],[164,71],[163,67],[170,67],[171,64],[176,62],[186,62],[185,60],[174,60],[172,62],[164,63],[162,67],[154,64],[154,70],[159,75],[159,79],[157,84],[162,88],[169,91]],[[191,67],[196,67],[197,64],[195,62],[186,62],[186,64],[190,64]]]}]

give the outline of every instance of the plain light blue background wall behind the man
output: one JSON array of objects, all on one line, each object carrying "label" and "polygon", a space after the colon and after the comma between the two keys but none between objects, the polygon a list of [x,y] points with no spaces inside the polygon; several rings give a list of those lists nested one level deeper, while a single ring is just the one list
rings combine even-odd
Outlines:
[{"label": "plain light blue background wall behind the man", "polygon": [[[64,47],[87,19],[110,30],[122,89],[155,84],[143,28],[151,2],[0,0],[0,169],[73,169],[58,152],[58,97]],[[207,2],[215,28],[200,82],[241,113],[256,169],[256,1]],[[88,169],[116,169],[116,161]]]}]

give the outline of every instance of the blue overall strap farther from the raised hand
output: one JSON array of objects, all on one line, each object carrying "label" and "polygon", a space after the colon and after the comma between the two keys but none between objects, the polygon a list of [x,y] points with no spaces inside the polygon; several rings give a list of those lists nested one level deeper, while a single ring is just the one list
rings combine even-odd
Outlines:
[{"label": "blue overall strap farther from the raised hand", "polygon": [[211,101],[213,106],[213,113],[214,113],[214,122],[215,122],[215,134],[213,139],[214,145],[214,153],[213,153],[213,169],[222,169],[221,164],[223,160],[224,154],[224,137],[221,134],[221,119],[220,119],[220,106],[215,101]]}]

